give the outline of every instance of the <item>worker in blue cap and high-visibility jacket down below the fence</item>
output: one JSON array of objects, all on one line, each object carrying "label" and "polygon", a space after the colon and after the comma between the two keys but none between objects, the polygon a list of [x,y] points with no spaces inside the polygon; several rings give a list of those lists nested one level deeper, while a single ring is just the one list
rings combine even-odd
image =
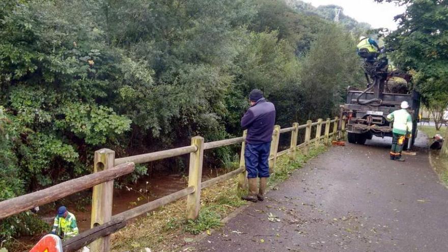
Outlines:
[{"label": "worker in blue cap and high-visibility jacket down below the fence", "polygon": [[78,226],[76,225],[75,215],[67,211],[65,206],[58,209],[58,214],[54,217],[53,229],[51,234],[67,240],[79,234]]}]

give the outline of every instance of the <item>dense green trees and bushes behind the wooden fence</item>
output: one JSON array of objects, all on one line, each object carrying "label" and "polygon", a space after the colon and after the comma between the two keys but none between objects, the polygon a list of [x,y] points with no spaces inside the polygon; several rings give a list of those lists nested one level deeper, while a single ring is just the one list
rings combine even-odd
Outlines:
[{"label": "dense green trees and bushes behind the wooden fence", "polygon": [[[0,7],[0,200],[90,173],[99,148],[124,156],[240,135],[254,88],[290,126],[334,116],[361,83],[352,35],[282,0]],[[137,170],[129,180],[147,167]]]}]

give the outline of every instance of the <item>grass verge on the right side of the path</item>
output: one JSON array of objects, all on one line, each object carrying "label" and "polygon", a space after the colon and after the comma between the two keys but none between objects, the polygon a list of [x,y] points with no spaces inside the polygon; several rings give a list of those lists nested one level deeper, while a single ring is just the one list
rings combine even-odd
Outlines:
[{"label": "grass verge on the right side of the path", "polygon": [[[434,126],[418,126],[418,129],[425,132],[431,143],[432,137],[435,134],[441,134],[442,136],[444,135],[443,130],[445,128],[442,127],[441,129],[443,130],[436,130]],[[445,141],[445,144],[448,144],[448,142]],[[442,181],[442,183],[448,188],[448,158],[441,158],[439,153],[439,150],[430,150],[429,159],[434,171],[439,176],[440,181]]]}]

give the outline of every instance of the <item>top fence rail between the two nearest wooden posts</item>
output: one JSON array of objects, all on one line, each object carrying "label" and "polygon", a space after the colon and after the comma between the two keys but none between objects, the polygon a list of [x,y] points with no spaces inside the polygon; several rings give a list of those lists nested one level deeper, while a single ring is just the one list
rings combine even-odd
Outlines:
[{"label": "top fence rail between the two nearest wooden posts", "polygon": [[127,163],[127,162],[147,163],[147,162],[156,161],[156,160],[160,160],[160,159],[164,159],[164,158],[176,157],[176,156],[188,154],[191,152],[195,152],[197,150],[198,150],[198,147],[190,145],[190,146],[180,147],[180,148],[176,148],[176,149],[151,152],[151,153],[129,156],[129,157],[121,157],[121,158],[115,159],[115,165]]}]

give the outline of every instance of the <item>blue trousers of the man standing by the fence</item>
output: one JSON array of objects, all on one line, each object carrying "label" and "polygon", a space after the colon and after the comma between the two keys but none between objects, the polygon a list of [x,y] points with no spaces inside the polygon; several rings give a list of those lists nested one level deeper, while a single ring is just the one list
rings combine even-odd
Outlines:
[{"label": "blue trousers of the man standing by the fence", "polygon": [[244,149],[244,161],[246,164],[247,178],[268,178],[269,177],[269,151],[271,142],[250,145],[246,143]]}]

